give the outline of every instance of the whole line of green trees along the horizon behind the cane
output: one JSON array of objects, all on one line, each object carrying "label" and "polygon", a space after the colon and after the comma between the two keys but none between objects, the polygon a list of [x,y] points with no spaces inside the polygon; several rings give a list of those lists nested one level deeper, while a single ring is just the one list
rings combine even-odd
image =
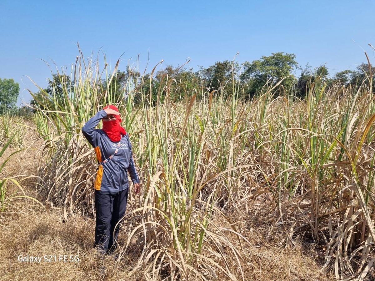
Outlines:
[{"label": "whole line of green trees along the horizon behind the cane", "polygon": [[[244,99],[254,97],[262,90],[265,84],[275,85],[277,83],[279,83],[279,86],[275,88],[276,92],[291,93],[303,99],[306,95],[306,87],[318,77],[328,86],[340,83],[345,87],[349,85],[355,87],[362,84],[366,78],[369,78],[370,73],[372,79],[375,78],[375,67],[371,67],[371,69],[370,67],[368,64],[363,63],[357,66],[356,70],[344,70],[330,76],[326,66],[312,69],[312,67],[307,65],[302,68],[297,63],[295,54],[276,52],[270,56],[263,56],[259,60],[245,61],[242,64],[229,60],[217,61],[209,67],[200,66],[198,70],[167,65],[154,73],[152,77],[151,73],[141,76],[140,73],[127,67],[126,70],[117,71],[115,79],[108,85],[108,90],[111,93],[115,93],[118,97],[126,95],[129,89],[124,87],[124,85],[129,86],[130,81],[133,87],[142,85],[143,88],[139,89],[138,92],[147,94],[151,92],[152,100],[156,100],[160,85],[164,85],[163,83],[168,79],[169,81],[173,80],[169,88],[170,95],[172,99],[178,100],[186,94],[194,94],[197,89],[202,87],[206,90],[220,93],[225,91],[224,89],[232,89],[234,87],[233,83],[240,81],[241,85],[237,90],[240,97]],[[300,71],[300,75],[296,77],[294,73],[298,71]],[[141,83],[141,79],[146,81],[146,83]],[[109,80],[107,78],[99,81],[99,92],[104,92],[107,89],[107,81]],[[148,81],[151,81],[151,83]],[[30,105],[38,105],[42,99],[44,99],[43,102],[52,102],[52,100],[62,102],[64,93],[71,93],[74,90],[72,87],[73,85],[68,75],[55,74],[49,80],[47,87],[42,90],[45,93],[42,94],[41,91],[35,93]],[[19,91],[20,86],[13,79],[0,78],[0,114],[5,112],[20,115],[32,114],[33,111],[28,106],[17,109],[16,103]],[[166,94],[165,91],[162,91],[161,102]],[[50,96],[49,100],[45,100],[46,94]],[[231,94],[231,91],[228,91],[227,94]],[[141,97],[135,95],[134,102],[140,103]]]}]

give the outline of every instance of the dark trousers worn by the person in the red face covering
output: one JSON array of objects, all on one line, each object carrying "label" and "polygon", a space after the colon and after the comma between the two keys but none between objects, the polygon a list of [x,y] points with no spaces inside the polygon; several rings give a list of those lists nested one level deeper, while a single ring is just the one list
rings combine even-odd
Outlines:
[{"label": "dark trousers worn by the person in the red face covering", "polygon": [[95,242],[102,254],[110,254],[117,248],[118,231],[116,224],[126,211],[129,188],[119,192],[95,190],[94,200],[96,209]]}]

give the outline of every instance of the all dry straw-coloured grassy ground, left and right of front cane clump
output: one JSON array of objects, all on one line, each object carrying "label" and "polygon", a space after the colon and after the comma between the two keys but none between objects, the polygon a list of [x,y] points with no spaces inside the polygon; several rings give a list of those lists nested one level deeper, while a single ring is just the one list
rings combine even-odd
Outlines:
[{"label": "all dry straw-coloured grassy ground, left and right of front cane clump", "polygon": [[[39,142],[34,143],[34,147]],[[29,149],[22,157],[13,157],[7,164],[7,171],[13,175],[35,174],[38,157],[36,149]],[[34,181],[34,178],[29,178],[22,185],[28,195],[38,198]],[[235,209],[226,212],[236,222],[237,230],[250,242],[243,242],[241,261],[246,280],[334,280],[330,269],[321,269],[322,259],[318,258],[320,253],[314,248],[309,249],[308,245],[298,242],[296,246],[285,248],[282,230],[274,227],[272,220],[264,219],[271,211],[269,206],[267,199],[258,199],[250,203],[247,211]],[[43,211],[33,204],[20,205],[20,209],[23,212],[12,209],[19,214],[3,214],[0,218],[0,280],[162,279],[154,278],[148,272],[132,271],[136,256],[131,252],[117,265],[111,257],[100,259],[92,248],[95,231],[92,218],[77,216],[63,222],[57,211]],[[226,221],[216,219],[215,223],[228,227]],[[126,229],[123,228],[119,236],[119,242],[123,244],[127,239]],[[228,236],[240,248],[235,236],[231,233]],[[78,255],[80,261],[26,263],[17,261],[19,255]],[[103,265],[105,274],[101,275]]]}]

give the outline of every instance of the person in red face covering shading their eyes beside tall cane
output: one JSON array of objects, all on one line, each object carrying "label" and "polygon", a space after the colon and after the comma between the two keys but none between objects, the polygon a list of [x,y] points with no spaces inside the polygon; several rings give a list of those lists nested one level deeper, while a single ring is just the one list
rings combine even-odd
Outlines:
[{"label": "person in red face covering shading their eyes beside tall cane", "polygon": [[[95,129],[100,120],[102,129]],[[125,129],[121,127],[118,109],[105,106],[82,127],[82,133],[93,146],[98,160],[94,183],[96,209],[94,247],[102,254],[112,254],[117,248],[120,229],[117,223],[126,211],[129,182],[127,172],[139,193],[139,178],[132,156],[132,145]]]}]

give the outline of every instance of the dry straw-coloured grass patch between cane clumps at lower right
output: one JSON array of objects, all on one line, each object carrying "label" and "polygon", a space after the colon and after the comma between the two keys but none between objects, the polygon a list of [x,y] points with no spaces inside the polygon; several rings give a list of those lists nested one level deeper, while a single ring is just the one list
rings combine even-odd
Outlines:
[{"label": "dry straw-coloured grass patch between cane clumps at lower right", "polygon": [[[258,200],[249,210],[231,210],[229,218],[236,222],[237,230],[250,243],[244,243],[243,271],[245,280],[332,280],[334,275],[321,268],[317,252],[297,242],[285,247],[285,235],[272,220],[264,220],[271,212],[267,200]],[[223,221],[216,222],[228,227]],[[235,247],[240,245],[228,233]]]}]

